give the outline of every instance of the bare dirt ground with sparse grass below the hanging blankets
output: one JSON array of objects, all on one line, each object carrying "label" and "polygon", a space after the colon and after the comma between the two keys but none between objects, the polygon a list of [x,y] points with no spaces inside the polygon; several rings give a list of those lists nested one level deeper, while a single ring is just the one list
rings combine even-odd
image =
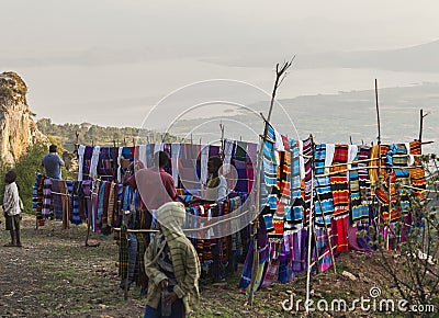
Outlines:
[{"label": "bare dirt ground with sparse grass below the hanging blankets", "polygon": [[[0,317],[143,317],[144,299],[138,287],[132,287],[124,300],[119,287],[117,246],[113,238],[92,235],[97,248],[86,248],[86,227],[61,230],[58,222],[48,222],[35,230],[35,219],[25,215],[22,222],[23,248],[8,248],[4,222],[0,225]],[[383,295],[394,291],[380,273],[378,254],[345,253],[337,259],[337,274],[330,269],[312,275],[313,299],[352,299],[370,297],[379,287]],[[345,272],[345,274],[341,274]],[[346,272],[352,274],[346,274]],[[306,275],[289,284],[273,284],[255,296],[255,305],[245,305],[239,293],[239,273],[223,284],[202,283],[202,303],[198,317],[292,317],[282,302],[305,299]],[[375,317],[376,313],[314,313],[314,317]],[[403,316],[392,316],[403,317]]]}]

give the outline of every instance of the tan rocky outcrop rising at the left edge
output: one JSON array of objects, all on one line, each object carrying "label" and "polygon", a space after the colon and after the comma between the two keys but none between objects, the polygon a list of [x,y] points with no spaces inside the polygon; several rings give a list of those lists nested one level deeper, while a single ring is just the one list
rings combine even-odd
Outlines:
[{"label": "tan rocky outcrop rising at the left edge", "polygon": [[0,73],[0,160],[14,163],[36,143],[48,144],[26,102],[27,87],[15,72]]}]

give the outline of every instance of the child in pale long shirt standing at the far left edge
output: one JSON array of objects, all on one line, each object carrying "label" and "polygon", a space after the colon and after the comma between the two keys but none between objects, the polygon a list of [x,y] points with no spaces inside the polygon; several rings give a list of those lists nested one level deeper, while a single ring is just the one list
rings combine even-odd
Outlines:
[{"label": "child in pale long shirt standing at the far left edge", "polygon": [[4,198],[3,212],[5,218],[7,230],[11,232],[11,242],[5,243],[5,247],[22,247],[20,241],[20,220],[23,203],[19,195],[19,188],[15,183],[16,173],[8,171],[4,175]]}]

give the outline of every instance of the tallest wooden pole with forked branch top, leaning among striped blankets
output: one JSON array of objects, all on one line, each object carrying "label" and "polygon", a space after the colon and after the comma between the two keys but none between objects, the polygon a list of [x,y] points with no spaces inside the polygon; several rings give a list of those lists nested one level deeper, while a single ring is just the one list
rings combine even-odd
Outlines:
[{"label": "tallest wooden pole with forked branch top, leaning among striped blankets", "polygon": [[[262,167],[262,154],[263,154],[263,144],[266,143],[267,139],[267,134],[268,134],[268,125],[270,123],[271,118],[271,113],[273,111],[273,105],[274,105],[274,99],[275,99],[275,92],[279,88],[279,86],[282,83],[283,79],[285,78],[285,71],[290,68],[294,60],[294,57],[292,58],[291,61],[284,63],[281,68],[279,68],[279,64],[275,66],[275,81],[273,86],[273,91],[271,93],[271,101],[270,101],[270,109],[268,111],[268,116],[264,123],[263,127],[263,135],[260,140],[260,147],[259,147],[259,152],[258,152],[258,166],[256,170],[256,208],[255,208],[255,218],[252,223],[252,241],[254,241],[254,262],[252,262],[252,268],[251,268],[251,279],[250,279],[250,293],[248,297],[248,305],[252,306],[254,304],[254,298],[255,298],[255,283],[256,283],[256,275],[258,273],[258,266],[259,266],[259,250],[258,250],[258,228],[259,228],[259,212],[260,212],[260,185],[261,185],[261,167]],[[261,114],[262,118],[263,115]],[[254,190],[255,191],[255,190]]]}]

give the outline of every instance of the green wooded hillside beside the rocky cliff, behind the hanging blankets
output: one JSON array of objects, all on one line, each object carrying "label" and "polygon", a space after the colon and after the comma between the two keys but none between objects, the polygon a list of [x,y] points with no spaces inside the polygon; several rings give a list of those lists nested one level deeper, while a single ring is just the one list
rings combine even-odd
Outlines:
[{"label": "green wooded hillside beside the rocky cliff, behind the hanging blankets", "polygon": [[[66,150],[74,151],[75,144],[99,146],[133,146],[135,143],[161,143],[179,140],[178,137],[135,127],[102,127],[89,123],[54,124],[50,118],[37,121],[38,129],[53,136]],[[142,137],[139,137],[142,136]],[[139,138],[139,139],[138,139]]]}]

